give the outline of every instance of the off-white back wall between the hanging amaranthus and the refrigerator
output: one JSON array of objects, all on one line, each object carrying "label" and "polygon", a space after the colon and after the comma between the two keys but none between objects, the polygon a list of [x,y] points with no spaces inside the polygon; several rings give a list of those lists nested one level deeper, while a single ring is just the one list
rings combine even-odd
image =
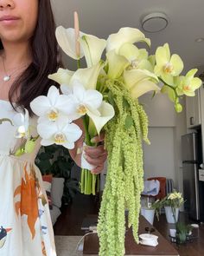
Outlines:
[{"label": "off-white back wall between the hanging amaranthus and the refrigerator", "polygon": [[143,145],[144,178],[164,176],[175,181],[182,192],[181,135],[186,133],[185,102],[182,113],[176,114],[167,95],[150,94],[140,98],[149,116],[150,146]]}]

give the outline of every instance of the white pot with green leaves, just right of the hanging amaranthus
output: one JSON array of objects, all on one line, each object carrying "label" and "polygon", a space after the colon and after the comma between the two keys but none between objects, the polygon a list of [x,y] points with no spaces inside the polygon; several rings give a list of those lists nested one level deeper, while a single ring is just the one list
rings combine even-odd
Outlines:
[{"label": "white pot with green leaves, just right of the hanging amaranthus", "polygon": [[143,217],[146,220],[148,220],[151,225],[153,225],[155,214],[156,214],[157,220],[159,220],[161,207],[163,207],[161,200],[150,202],[148,197],[147,204],[141,207],[141,215],[143,215]]}]

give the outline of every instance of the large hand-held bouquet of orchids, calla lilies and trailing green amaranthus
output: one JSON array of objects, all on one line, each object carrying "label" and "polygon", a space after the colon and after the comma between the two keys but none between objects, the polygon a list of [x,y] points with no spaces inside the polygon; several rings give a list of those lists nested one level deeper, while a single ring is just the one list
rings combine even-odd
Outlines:
[{"label": "large hand-held bouquet of orchids, calla lilies and trailing green amaranthus", "polygon": [[[124,255],[125,217],[138,242],[140,194],[143,191],[142,141],[148,140],[148,117],[139,97],[149,91],[166,93],[182,111],[180,98],[194,96],[201,80],[194,77],[197,69],[181,75],[180,56],[170,54],[165,43],[150,56],[150,39],[140,30],[121,28],[105,39],[80,32],[75,14],[74,29],[58,27],[56,38],[61,49],[78,64],[76,71],[59,69],[49,78],[61,85],[52,86],[47,96],[37,97],[31,108],[38,119],[38,133],[44,146],[53,143],[73,148],[82,131],[74,121],[82,118],[87,146],[96,146],[92,138],[105,132],[108,169],[105,190],[99,211],[99,255]],[[139,49],[142,42],[147,49]],[[105,50],[105,59],[102,53]],[[80,67],[85,56],[86,68]],[[82,154],[80,189],[95,194],[99,175],[91,174]],[[170,198],[168,199],[170,200]],[[174,200],[177,202],[177,200]]]}]

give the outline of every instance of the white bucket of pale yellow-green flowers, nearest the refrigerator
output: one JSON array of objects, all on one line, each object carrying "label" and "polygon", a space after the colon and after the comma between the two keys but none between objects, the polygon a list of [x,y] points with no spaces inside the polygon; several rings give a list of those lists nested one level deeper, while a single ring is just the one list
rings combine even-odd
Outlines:
[{"label": "white bucket of pale yellow-green flowers, nearest the refrigerator", "polygon": [[182,194],[175,190],[162,200],[168,223],[176,223],[178,221],[179,208],[183,202]]}]

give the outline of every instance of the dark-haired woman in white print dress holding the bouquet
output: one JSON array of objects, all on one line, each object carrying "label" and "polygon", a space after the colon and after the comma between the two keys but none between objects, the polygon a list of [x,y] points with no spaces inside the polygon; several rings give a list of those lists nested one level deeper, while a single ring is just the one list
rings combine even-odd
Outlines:
[{"label": "dark-haired woman in white print dress holding the bouquet", "polygon": [[[0,256],[53,256],[54,234],[48,200],[35,167],[40,141],[31,154],[16,156],[23,145],[19,121],[22,108],[29,110],[31,134],[36,118],[29,103],[46,95],[56,72],[57,43],[49,0],[0,0]],[[71,152],[80,165],[77,141]],[[103,147],[86,149],[86,160],[103,169]]]}]

